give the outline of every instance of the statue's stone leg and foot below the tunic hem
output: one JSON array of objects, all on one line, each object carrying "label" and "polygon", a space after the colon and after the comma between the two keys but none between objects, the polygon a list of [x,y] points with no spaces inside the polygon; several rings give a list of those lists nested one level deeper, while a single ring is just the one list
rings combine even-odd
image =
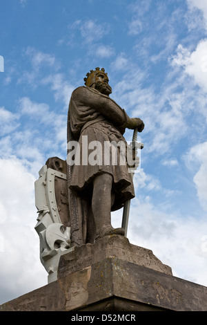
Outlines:
[{"label": "statue's stone leg and foot below the tunic hem", "polygon": [[101,174],[93,182],[92,214],[95,220],[96,238],[110,234],[124,235],[123,228],[112,228],[110,210],[112,203],[112,176]]}]

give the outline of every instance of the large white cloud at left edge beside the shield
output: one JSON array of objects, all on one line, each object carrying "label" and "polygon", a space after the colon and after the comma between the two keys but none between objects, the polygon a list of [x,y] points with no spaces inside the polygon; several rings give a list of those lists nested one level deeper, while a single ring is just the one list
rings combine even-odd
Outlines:
[{"label": "large white cloud at left edge beside the shield", "polygon": [[34,176],[22,160],[0,159],[0,251],[3,302],[47,284],[39,260],[39,239],[34,231],[37,209]]}]

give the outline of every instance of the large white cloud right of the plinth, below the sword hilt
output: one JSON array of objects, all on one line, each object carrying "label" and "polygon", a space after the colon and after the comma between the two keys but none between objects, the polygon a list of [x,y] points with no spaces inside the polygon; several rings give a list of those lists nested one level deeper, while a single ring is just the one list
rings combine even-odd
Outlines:
[{"label": "large white cloud right of the plinth, below the sword hilt", "polygon": [[[162,212],[150,199],[137,198],[132,203],[129,223],[130,242],[151,249],[172,274],[206,285],[207,252],[202,238],[207,234],[205,219],[179,219],[173,212]],[[197,270],[201,270],[200,274]],[[197,274],[197,277],[194,275]]]}]

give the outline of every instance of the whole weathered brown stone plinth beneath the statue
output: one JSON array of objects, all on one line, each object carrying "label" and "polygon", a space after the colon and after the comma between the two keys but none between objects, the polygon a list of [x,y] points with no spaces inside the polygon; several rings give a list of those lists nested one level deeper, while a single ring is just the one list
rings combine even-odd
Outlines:
[{"label": "whole weathered brown stone plinth beneath the statue", "polygon": [[207,288],[172,276],[152,251],[107,236],[64,254],[58,279],[0,310],[207,310]]}]

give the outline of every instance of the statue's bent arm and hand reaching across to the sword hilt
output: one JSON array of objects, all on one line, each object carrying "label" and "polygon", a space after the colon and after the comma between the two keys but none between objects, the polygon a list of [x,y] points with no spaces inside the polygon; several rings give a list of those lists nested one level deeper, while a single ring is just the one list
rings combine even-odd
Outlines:
[{"label": "statue's bent arm and hand reaching across to the sword hilt", "polygon": [[144,123],[139,118],[130,118],[124,109],[106,95],[90,91],[86,87],[79,87],[74,91],[73,96],[75,100],[99,111],[119,127],[138,128],[139,132],[144,129]]}]

